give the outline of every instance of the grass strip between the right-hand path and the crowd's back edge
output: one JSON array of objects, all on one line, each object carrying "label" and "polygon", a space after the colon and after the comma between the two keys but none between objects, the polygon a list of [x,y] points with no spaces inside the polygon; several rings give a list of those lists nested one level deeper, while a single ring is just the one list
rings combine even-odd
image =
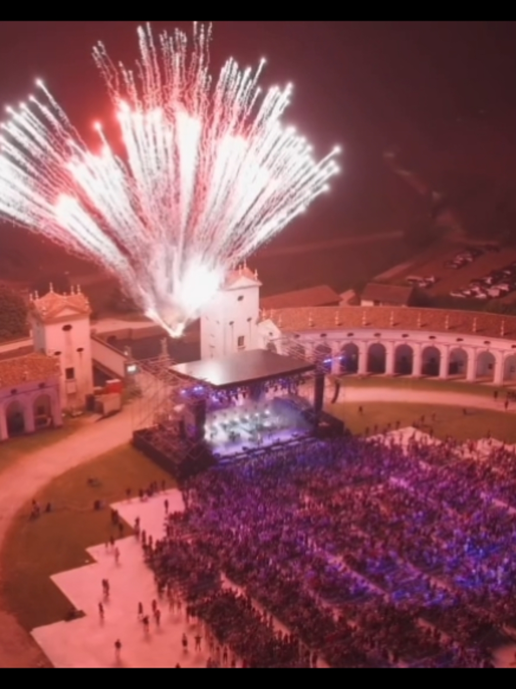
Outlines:
[{"label": "grass strip between the right-hand path and the crowd's back edge", "polygon": [[[478,440],[485,438],[491,431],[494,438],[516,443],[516,416],[504,411],[490,411],[486,409],[468,409],[464,415],[458,407],[436,407],[435,404],[409,404],[398,402],[365,402],[363,415],[358,411],[356,402],[334,404],[328,411],[345,421],[352,433],[363,433],[366,428],[371,432],[374,426],[378,430],[385,430],[387,424],[400,422],[401,426],[411,426],[414,421],[420,422],[424,415],[425,424],[432,426],[437,438],[453,435],[458,440]],[[431,415],[436,414],[436,421],[431,421]]]}]

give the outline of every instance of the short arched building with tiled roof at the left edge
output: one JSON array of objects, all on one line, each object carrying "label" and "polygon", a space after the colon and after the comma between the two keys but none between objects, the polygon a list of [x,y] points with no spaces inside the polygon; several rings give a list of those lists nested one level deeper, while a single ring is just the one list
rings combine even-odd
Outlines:
[{"label": "short arched building with tiled roof at the left edge", "polygon": [[0,361],[0,442],[63,425],[60,378],[58,360],[44,354]]}]

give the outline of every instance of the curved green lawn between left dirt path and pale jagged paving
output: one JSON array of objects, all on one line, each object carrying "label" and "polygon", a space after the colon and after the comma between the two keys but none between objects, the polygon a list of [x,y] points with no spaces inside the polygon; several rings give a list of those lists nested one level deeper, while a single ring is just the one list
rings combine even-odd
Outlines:
[{"label": "curved green lawn between left dirt path and pale jagged paving", "polygon": [[[96,478],[100,487],[87,482]],[[5,606],[28,630],[64,619],[70,604],[50,576],[91,562],[86,548],[104,543],[111,535],[109,508],[95,512],[96,500],[109,505],[153,481],[173,480],[131,446],[123,446],[54,480],[36,500],[54,511],[37,522],[29,520],[27,504],[12,525],[2,557]],[[131,533],[126,529],[126,535]]]}]

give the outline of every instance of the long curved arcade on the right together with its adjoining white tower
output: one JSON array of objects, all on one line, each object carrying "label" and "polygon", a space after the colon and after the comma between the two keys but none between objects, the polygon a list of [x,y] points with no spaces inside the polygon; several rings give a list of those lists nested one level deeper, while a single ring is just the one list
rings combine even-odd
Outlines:
[{"label": "long curved arcade on the right together with its adjoining white tower", "polygon": [[246,267],[231,274],[204,309],[202,358],[259,347],[316,360],[336,376],[516,386],[516,316],[405,306],[260,309],[260,287]]}]

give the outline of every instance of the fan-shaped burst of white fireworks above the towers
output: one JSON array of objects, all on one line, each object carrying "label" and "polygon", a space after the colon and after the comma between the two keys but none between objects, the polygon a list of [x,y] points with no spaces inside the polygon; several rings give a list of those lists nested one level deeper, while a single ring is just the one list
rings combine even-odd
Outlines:
[{"label": "fan-shaped burst of white fireworks above the towers", "polygon": [[209,72],[211,28],[193,45],[176,30],[156,45],[138,30],[136,70],[96,63],[116,107],[118,156],[100,125],[91,152],[38,83],[1,125],[0,214],[93,258],[173,336],[224,281],[327,190],[334,150],[320,162],[281,124],[292,88],[261,95],[255,71],[229,59]]}]

